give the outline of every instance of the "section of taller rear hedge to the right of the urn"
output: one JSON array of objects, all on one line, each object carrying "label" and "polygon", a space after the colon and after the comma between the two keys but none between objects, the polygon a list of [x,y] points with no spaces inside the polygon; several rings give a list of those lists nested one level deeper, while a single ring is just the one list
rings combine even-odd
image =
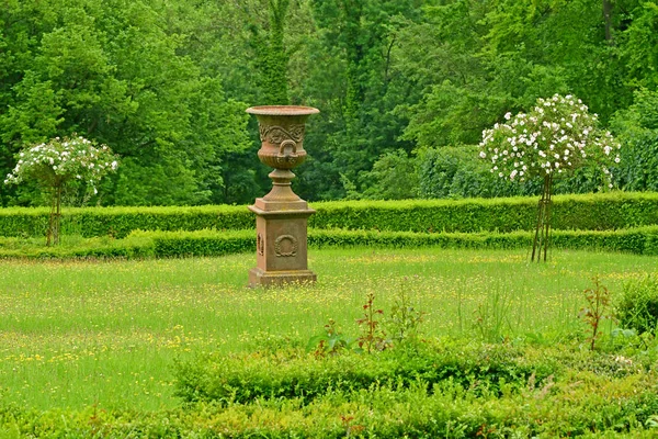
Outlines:
[{"label": "section of taller rear hedge to the right of the urn", "polygon": [[[315,228],[395,232],[513,232],[536,224],[536,198],[355,201],[314,204]],[[658,224],[658,193],[603,193],[554,198],[556,229],[610,230]]]}]

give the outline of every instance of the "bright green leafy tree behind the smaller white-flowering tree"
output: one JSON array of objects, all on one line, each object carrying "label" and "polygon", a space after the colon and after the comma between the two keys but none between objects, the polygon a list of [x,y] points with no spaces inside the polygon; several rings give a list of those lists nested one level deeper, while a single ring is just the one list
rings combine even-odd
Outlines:
[{"label": "bright green leafy tree behind the smaller white-flowering tree", "polygon": [[179,54],[186,38],[169,29],[168,4],[9,5],[0,12],[2,35],[14,42],[14,61],[0,80],[10,83],[0,95],[8,109],[0,114],[5,166],[25,143],[77,133],[124,157],[104,203],[214,200],[225,154],[250,144],[245,104],[227,100],[220,78]]}]

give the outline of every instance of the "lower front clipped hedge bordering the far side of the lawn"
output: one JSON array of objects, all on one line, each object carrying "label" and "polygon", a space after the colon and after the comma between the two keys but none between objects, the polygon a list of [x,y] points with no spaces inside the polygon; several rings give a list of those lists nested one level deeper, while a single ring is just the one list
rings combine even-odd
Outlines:
[{"label": "lower front clipped hedge bordering the far side of the lawn", "polygon": [[[532,246],[532,232],[413,233],[309,229],[310,248],[469,248],[515,249]],[[620,230],[554,230],[555,248],[658,255],[658,226]],[[44,247],[20,245],[18,238],[0,238],[4,258],[180,258],[256,251],[253,230],[197,230],[132,233],[124,239],[91,238],[73,245]]]}]

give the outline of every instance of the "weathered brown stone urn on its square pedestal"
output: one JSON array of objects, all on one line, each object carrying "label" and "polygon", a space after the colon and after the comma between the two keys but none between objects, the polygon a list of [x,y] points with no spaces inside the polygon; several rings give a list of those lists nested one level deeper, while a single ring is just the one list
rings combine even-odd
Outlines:
[{"label": "weathered brown stone urn on its square pedestal", "polygon": [[249,271],[250,286],[315,282],[307,266],[307,219],[315,213],[295,194],[291,169],[306,160],[305,123],[319,113],[310,106],[252,106],[259,123],[261,148],[258,158],[271,168],[272,190],[257,199],[249,210],[256,213],[257,267]]}]

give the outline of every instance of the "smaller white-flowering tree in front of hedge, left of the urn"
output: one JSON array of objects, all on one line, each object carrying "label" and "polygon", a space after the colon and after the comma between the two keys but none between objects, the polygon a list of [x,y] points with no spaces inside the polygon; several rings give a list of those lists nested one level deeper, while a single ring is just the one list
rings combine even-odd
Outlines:
[{"label": "smaller white-flowering tree in front of hedge, left of the urn", "polygon": [[48,143],[31,145],[18,155],[16,166],[4,184],[35,180],[50,199],[50,217],[46,245],[59,244],[61,194],[67,184],[80,180],[89,191],[98,193],[97,184],[116,170],[118,158],[106,145],[97,145],[83,137],[55,137]]}]

